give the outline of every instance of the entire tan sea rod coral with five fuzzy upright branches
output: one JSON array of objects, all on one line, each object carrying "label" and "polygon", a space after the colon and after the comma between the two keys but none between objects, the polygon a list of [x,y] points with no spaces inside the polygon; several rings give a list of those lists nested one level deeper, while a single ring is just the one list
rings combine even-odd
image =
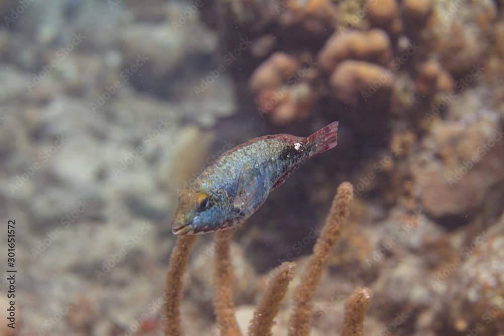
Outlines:
[{"label": "entire tan sea rod coral with five fuzzy upright branches", "polygon": [[[326,223],[313,247],[306,269],[303,272],[294,297],[294,311],[289,320],[288,335],[308,335],[312,317],[312,300],[317,285],[328,262],[329,252],[340,236],[340,228],[349,214],[353,199],[353,187],[343,182],[338,187],[333,199]],[[222,336],[241,335],[234,313],[232,293],[232,267],[229,257],[229,246],[233,231],[217,232],[215,236],[214,263],[214,309],[217,315]],[[182,336],[180,326],[180,297],[182,292],[181,277],[187,265],[190,249],[196,236],[180,236],[173,248],[170,265],[166,276],[164,332],[167,336]],[[250,321],[248,334],[268,336],[274,318],[280,309],[280,303],[287,292],[288,285],[294,277],[295,264],[284,262],[273,273],[263,294],[254,317]],[[347,300],[342,335],[362,335],[364,314],[369,306],[371,291],[367,288],[357,289]]]}]

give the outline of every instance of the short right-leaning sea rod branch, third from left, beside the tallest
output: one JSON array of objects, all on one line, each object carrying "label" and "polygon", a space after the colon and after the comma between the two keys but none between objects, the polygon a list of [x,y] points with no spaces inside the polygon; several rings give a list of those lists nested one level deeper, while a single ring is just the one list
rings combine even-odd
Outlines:
[{"label": "short right-leaning sea rod branch, third from left, beside the tallest", "polygon": [[250,321],[249,336],[271,336],[273,320],[280,310],[280,303],[294,277],[294,268],[293,262],[283,262],[276,268]]}]

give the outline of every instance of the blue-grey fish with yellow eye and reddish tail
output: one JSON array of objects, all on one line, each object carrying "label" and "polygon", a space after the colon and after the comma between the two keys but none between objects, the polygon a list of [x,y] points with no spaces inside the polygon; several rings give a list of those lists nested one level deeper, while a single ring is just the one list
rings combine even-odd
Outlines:
[{"label": "blue-grey fish with yellow eye and reddish tail", "polygon": [[334,148],[337,132],[335,121],[306,138],[267,135],[223,153],[180,190],[173,234],[202,234],[243,223],[301,163]]}]

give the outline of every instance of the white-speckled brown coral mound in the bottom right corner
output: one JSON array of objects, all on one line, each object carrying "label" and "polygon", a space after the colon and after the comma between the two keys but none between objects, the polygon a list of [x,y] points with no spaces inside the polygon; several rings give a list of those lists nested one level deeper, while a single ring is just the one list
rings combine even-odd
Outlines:
[{"label": "white-speckled brown coral mound in the bottom right corner", "polygon": [[443,277],[448,268],[444,265],[436,285],[449,281],[444,307],[456,329],[464,334],[497,335],[504,330],[504,216],[471,238],[452,263],[460,264],[453,277]]}]

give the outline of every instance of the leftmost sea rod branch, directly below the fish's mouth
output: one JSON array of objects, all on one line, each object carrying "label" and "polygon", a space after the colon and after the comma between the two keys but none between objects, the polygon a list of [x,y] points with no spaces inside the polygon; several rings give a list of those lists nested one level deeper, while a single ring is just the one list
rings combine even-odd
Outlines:
[{"label": "leftmost sea rod branch, directly below the fish's mouth", "polygon": [[180,236],[171,252],[170,264],[166,272],[164,290],[164,334],[165,336],[182,336],[180,325],[180,299],[182,297],[182,276],[187,266],[189,252],[196,241],[196,236]]}]

